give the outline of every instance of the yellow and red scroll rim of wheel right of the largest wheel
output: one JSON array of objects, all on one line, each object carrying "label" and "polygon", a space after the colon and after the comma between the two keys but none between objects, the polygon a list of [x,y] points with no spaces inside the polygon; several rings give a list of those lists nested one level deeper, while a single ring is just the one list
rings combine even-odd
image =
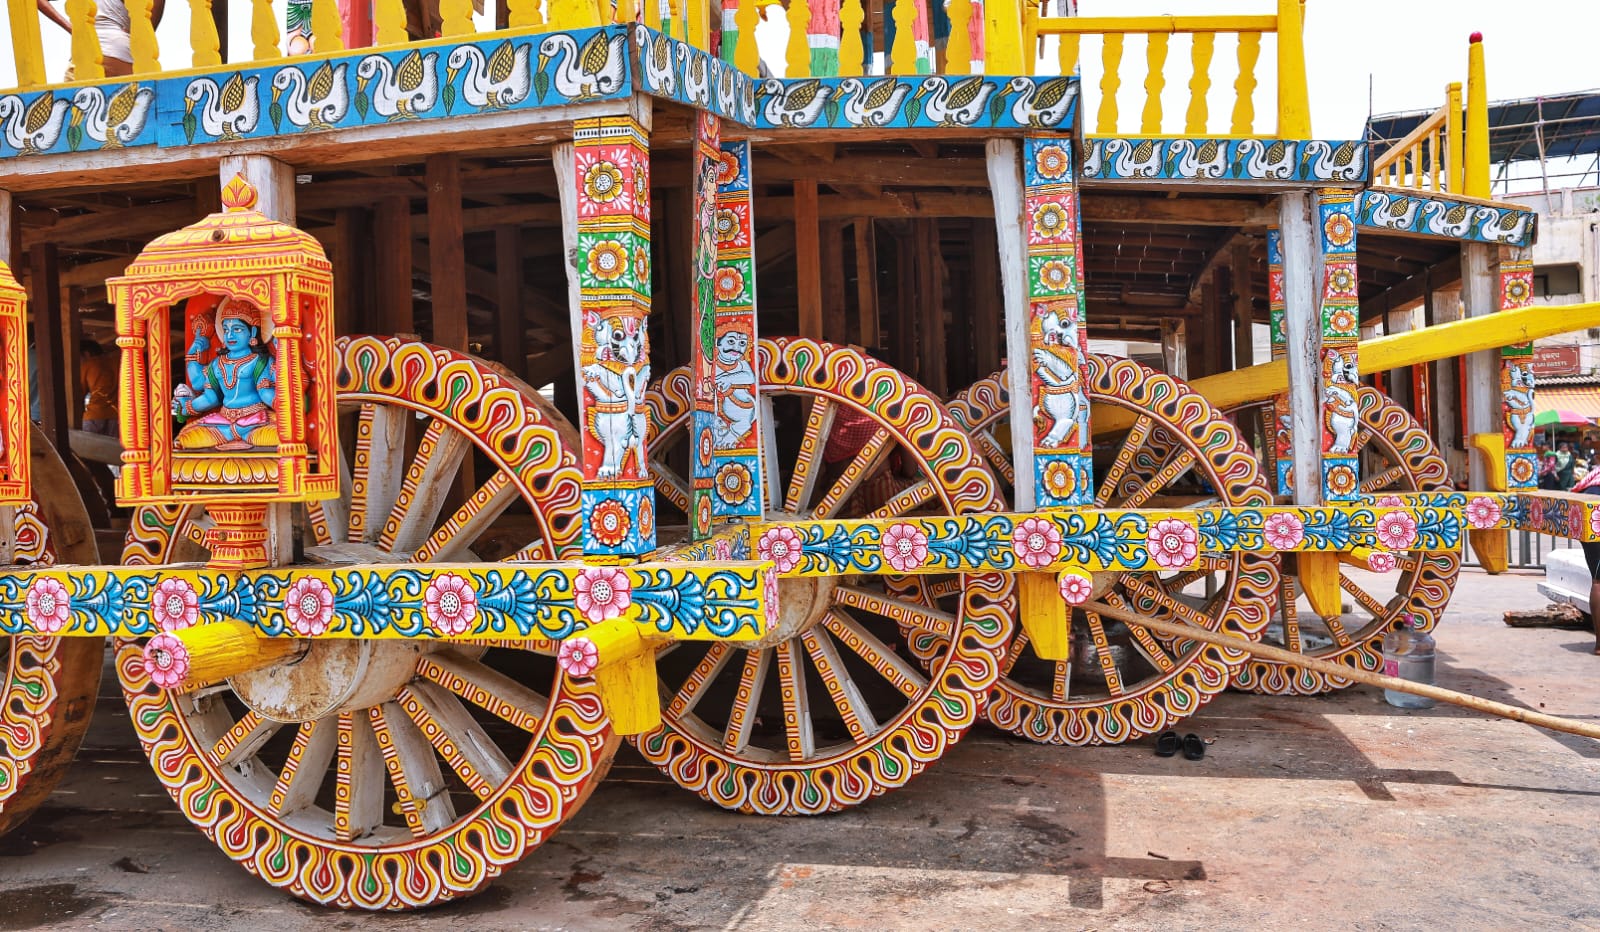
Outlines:
[{"label": "yellow and red scroll rim of wheel right of the largest wheel", "polygon": [[[763,339],[757,359],[763,386],[827,397],[874,415],[906,450],[925,458],[923,469],[939,482],[941,504],[949,509],[946,514],[1000,506],[994,480],[966,434],[933,396],[902,373],[851,347],[811,339]],[[669,375],[664,381],[670,384],[675,380]],[[685,402],[683,397],[653,400],[651,412],[661,418],[654,436],[669,432],[688,416]],[[936,661],[933,676],[907,706],[877,733],[858,737],[829,756],[802,761],[763,756],[754,761],[726,749],[720,735],[706,735],[686,725],[674,714],[678,706],[669,705],[662,725],[635,738],[638,751],[680,786],[741,812],[832,812],[902,786],[942,757],[973,725],[981,697],[998,676],[1000,655],[1011,637],[1011,618],[997,605],[997,596],[1010,586],[1005,576],[962,576],[960,585],[962,612],[952,649]],[[840,631],[845,631],[850,647],[850,629],[834,629],[835,634]],[[798,642],[792,644],[798,649]],[[778,653],[776,649],[773,653]],[[789,657],[787,661],[798,663],[798,658]],[[787,684],[784,689],[794,689],[792,676],[782,681]],[[792,703],[794,697],[789,698]],[[734,714],[741,711],[738,701],[744,703],[744,711],[749,709],[750,698],[744,697],[736,700]]]}]

